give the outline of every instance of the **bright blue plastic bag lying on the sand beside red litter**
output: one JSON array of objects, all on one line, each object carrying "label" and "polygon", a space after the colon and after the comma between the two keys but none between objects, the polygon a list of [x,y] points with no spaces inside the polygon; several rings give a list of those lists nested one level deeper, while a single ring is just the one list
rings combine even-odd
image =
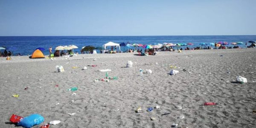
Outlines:
[{"label": "bright blue plastic bag lying on the sand beside red litter", "polygon": [[30,116],[24,117],[17,125],[24,128],[30,128],[34,125],[41,124],[44,122],[44,117],[39,114],[31,114]]}]

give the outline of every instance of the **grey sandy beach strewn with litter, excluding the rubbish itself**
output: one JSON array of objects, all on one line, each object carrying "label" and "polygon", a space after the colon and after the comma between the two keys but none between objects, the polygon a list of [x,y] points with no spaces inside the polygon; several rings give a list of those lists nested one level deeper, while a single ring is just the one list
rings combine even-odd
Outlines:
[{"label": "grey sandy beach strewn with litter, excluding the rubbish itself", "polygon": [[[173,123],[189,128],[253,128],[255,53],[256,49],[249,48],[158,52],[149,56],[86,54],[54,60],[0,58],[0,127],[15,128],[9,123],[12,114],[25,117],[38,113],[45,121],[33,128],[52,120],[61,123],[50,128],[170,128]],[[132,61],[133,67],[126,68],[127,61]],[[56,65],[65,71],[58,73]],[[82,70],[84,66],[86,70]],[[99,72],[102,69],[111,69],[109,76],[119,79],[93,82],[105,77],[105,72]],[[145,73],[146,69],[152,73]],[[169,75],[172,69],[179,73]],[[236,76],[248,82],[238,84]],[[70,87],[78,90],[68,91]],[[218,105],[204,106],[204,102]],[[146,111],[155,106],[160,108]],[[138,107],[143,112],[136,113]]]}]

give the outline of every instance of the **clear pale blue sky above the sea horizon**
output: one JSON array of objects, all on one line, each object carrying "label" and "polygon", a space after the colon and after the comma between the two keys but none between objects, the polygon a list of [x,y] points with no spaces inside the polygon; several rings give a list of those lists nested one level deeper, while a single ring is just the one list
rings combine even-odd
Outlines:
[{"label": "clear pale blue sky above the sea horizon", "polygon": [[0,36],[256,35],[256,0],[0,0]]}]

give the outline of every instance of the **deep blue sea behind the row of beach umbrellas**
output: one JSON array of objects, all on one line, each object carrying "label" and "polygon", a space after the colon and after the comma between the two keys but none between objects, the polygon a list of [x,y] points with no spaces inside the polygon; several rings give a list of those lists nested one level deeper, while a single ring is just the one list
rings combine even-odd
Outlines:
[{"label": "deep blue sea behind the row of beach umbrellas", "polygon": [[[130,44],[153,44],[153,43],[189,43],[192,46],[185,47],[201,47],[200,43],[215,43],[219,41],[228,42],[228,47],[233,47],[232,42],[243,42],[239,47],[247,47],[247,41],[256,41],[256,35],[204,35],[204,36],[0,36],[0,47],[16,47],[17,50],[11,51],[13,55],[18,53],[22,55],[31,55],[35,49],[42,47],[44,55],[49,55],[49,47],[52,47],[53,52],[57,46],[76,45],[78,49],[74,52],[79,52],[82,47],[92,45],[95,47],[112,41],[114,43]],[[250,43],[247,43],[250,45]],[[108,49],[108,48],[107,48]],[[122,51],[129,49],[128,47],[121,47]],[[140,47],[141,49],[141,47]],[[3,52],[3,50],[1,50]],[[99,52],[99,51],[98,51]]]}]

